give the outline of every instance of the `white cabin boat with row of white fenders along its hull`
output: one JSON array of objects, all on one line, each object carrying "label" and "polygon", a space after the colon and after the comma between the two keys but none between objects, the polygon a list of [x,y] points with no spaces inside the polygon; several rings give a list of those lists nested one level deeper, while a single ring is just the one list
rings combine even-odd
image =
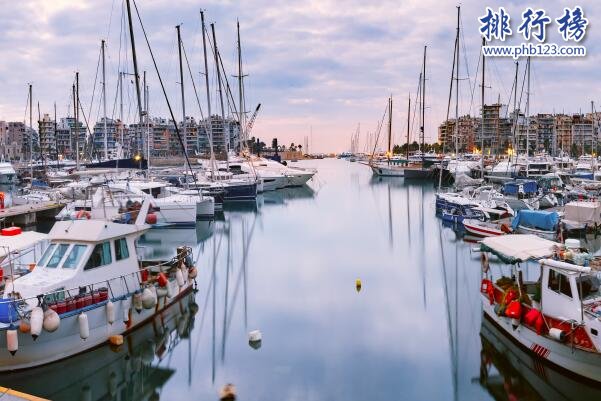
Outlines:
[{"label": "white cabin boat with row of white fenders along its hull", "polygon": [[59,221],[31,273],[5,284],[0,371],[44,365],[135,329],[193,289],[191,249],[163,262],[138,260],[148,200],[112,220]]}]

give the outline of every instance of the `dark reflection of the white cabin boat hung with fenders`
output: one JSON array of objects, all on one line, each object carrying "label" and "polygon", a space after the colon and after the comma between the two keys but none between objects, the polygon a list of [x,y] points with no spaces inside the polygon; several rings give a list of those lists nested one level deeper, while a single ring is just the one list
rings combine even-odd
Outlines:
[{"label": "dark reflection of the white cabin boat hung with fenders", "polygon": [[190,343],[186,339],[197,310],[190,293],[127,335],[120,347],[105,345],[39,368],[5,373],[0,381],[52,400],[159,400],[165,383],[178,368],[185,369],[172,357],[182,341]]}]

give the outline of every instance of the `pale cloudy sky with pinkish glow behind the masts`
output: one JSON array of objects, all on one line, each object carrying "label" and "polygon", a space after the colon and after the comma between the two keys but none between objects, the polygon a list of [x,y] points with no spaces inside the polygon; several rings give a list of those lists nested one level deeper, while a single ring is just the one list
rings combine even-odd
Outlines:
[{"label": "pale cloudy sky with pinkish glow behind the masts", "polygon": [[[28,121],[27,88],[33,85],[34,125],[37,103],[41,114],[58,115],[72,109],[71,86],[80,73],[80,99],[92,120],[102,116],[100,41],[107,41],[107,115],[119,117],[118,71],[133,72],[129,43],[123,43],[124,0],[0,0],[0,120]],[[426,62],[426,142],[436,140],[437,127],[447,113],[451,67],[456,34],[454,2],[340,1],[340,0],[137,0],[142,22],[165,83],[174,113],[181,118],[181,94],[175,25],[181,24],[182,42],[198,93],[184,64],[186,114],[206,114],[200,9],[207,23],[215,23],[217,44],[228,79],[237,98],[236,20],[240,21],[246,110],[258,103],[252,136],[267,143],[304,144],[311,152],[338,152],[350,148],[351,136],[360,132],[360,151],[371,151],[387,98],[393,97],[393,137],[406,140],[407,101],[415,100],[424,46]],[[601,4],[593,1],[521,2],[476,0],[461,2],[461,54],[459,114],[475,115],[480,107],[480,42],[478,17],[486,6],[505,7],[514,35],[506,43],[522,42],[517,34],[526,7],[542,8],[551,18],[564,7],[580,5],[589,20],[583,58],[533,58],[530,110],[538,112],[588,112],[591,101],[601,104]],[[134,14],[136,50],[140,71],[148,71],[149,111],[168,116],[148,47]],[[210,28],[207,27],[210,32]],[[563,42],[551,24],[547,42]],[[499,44],[499,43],[496,43]],[[121,50],[120,50],[121,47]],[[126,51],[127,48],[127,51]],[[219,111],[215,68],[209,63],[212,111]],[[525,59],[520,60],[520,84]],[[515,72],[510,58],[486,61],[487,103],[508,103]],[[126,121],[135,117],[135,91],[130,79],[124,84]],[[473,94],[472,94],[473,93]],[[525,97],[525,94],[523,95]],[[454,102],[454,100],[453,100]],[[524,100],[525,103],[525,100]],[[454,115],[454,103],[451,116]],[[601,109],[601,106],[599,107]],[[595,110],[598,110],[595,107]],[[412,113],[411,140],[418,124]],[[382,132],[379,143],[385,138]],[[371,138],[371,140],[370,140]],[[369,145],[369,146],[368,146]],[[383,145],[385,146],[385,144]]]}]

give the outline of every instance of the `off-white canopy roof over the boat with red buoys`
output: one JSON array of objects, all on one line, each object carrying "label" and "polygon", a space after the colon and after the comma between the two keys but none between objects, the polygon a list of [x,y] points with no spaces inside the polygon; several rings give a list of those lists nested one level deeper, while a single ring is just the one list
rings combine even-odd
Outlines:
[{"label": "off-white canopy roof over the boat with red buoys", "polygon": [[560,245],[534,234],[508,234],[484,238],[480,250],[495,254],[505,263],[515,264],[549,257],[553,247]]}]

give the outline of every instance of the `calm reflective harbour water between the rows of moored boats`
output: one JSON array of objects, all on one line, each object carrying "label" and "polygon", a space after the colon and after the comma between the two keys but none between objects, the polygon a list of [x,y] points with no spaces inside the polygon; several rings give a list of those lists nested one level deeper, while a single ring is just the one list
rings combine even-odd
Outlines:
[{"label": "calm reflective harbour water between the rows of moored boats", "polygon": [[[199,291],[165,321],[119,350],[102,347],[2,384],[90,400],[217,400],[226,383],[239,400],[555,394],[541,380],[534,388],[532,361],[482,328],[478,255],[435,217],[431,184],[375,179],[342,160],[298,164],[319,169],[310,187],[141,239],[148,258],[182,244],[198,255]],[[259,349],[248,343],[255,329]]]}]

